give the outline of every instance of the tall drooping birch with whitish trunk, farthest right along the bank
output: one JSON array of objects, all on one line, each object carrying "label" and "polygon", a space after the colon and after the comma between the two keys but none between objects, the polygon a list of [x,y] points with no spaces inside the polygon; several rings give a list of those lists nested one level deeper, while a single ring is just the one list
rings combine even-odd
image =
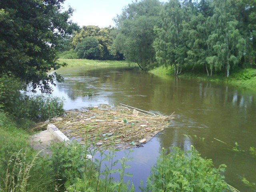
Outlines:
[{"label": "tall drooping birch with whitish trunk, farthest right along the bank", "polygon": [[238,21],[232,13],[230,0],[214,0],[212,2],[214,14],[209,18],[212,24],[212,32],[208,37],[212,55],[206,58],[208,64],[216,71],[225,70],[226,76],[230,74],[230,68],[235,67],[241,61],[245,51],[245,40],[236,28]]}]

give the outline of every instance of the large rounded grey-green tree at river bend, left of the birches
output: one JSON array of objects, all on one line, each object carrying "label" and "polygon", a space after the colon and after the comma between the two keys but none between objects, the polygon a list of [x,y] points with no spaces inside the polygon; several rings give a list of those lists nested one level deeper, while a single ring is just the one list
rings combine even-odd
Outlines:
[{"label": "large rounded grey-green tree at river bend, left of the birches", "polygon": [[162,4],[158,0],[142,0],[129,4],[116,18],[118,35],[114,46],[142,70],[155,60],[154,26],[159,26]]}]

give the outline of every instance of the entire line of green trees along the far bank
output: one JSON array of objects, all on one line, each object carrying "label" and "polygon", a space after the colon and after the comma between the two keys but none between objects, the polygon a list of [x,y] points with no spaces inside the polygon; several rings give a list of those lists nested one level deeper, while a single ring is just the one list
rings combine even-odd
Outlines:
[{"label": "entire line of green trees along the far bank", "polygon": [[70,42],[78,58],[123,54],[142,70],[158,64],[172,66],[175,74],[189,67],[229,76],[234,68],[255,66],[255,9],[255,0],[136,1],[115,18],[116,28],[92,33],[93,26],[85,26]]}]

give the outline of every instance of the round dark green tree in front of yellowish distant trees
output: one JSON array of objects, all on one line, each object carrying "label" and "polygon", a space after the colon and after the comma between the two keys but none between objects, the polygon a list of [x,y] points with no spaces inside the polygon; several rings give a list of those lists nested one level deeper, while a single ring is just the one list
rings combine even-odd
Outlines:
[{"label": "round dark green tree in front of yellowish distant trees", "polygon": [[82,42],[76,45],[75,51],[80,59],[102,58],[100,43],[95,37],[84,38]]}]

